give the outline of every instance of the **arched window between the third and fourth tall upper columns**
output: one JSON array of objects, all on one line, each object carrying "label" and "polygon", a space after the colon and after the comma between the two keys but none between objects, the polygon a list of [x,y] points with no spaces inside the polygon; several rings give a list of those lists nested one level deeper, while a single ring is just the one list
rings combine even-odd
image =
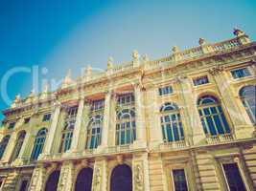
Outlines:
[{"label": "arched window between the third and fourth tall upper columns", "polygon": [[136,139],[135,112],[124,109],[117,114],[116,144],[130,144]]}]

